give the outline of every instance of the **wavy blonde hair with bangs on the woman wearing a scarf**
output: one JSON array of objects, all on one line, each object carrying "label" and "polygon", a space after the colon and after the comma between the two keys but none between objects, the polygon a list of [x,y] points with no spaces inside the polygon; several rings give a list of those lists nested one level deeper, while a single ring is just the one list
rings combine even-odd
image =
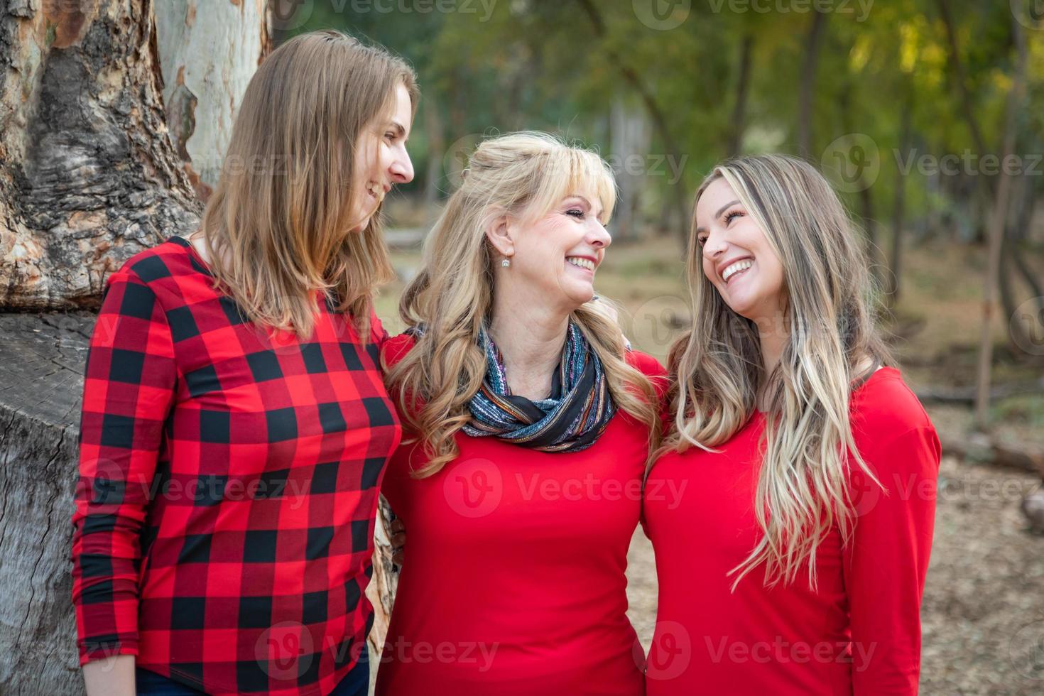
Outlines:
[{"label": "wavy blonde hair with bangs on the woman wearing a scarf", "polygon": [[[597,154],[543,133],[509,134],[483,141],[468,162],[424,246],[417,277],[399,312],[423,326],[417,345],[388,373],[388,391],[407,425],[405,441],[423,441],[429,461],[413,474],[431,476],[454,459],[454,435],[470,419],[468,402],[485,375],[479,331],[493,307],[493,264],[499,263],[485,230],[499,216],[536,221],[566,195],[591,188],[604,223],[616,201],[612,170]],[[656,391],[624,359],[624,338],[607,301],[588,302],[570,316],[601,360],[622,411],[659,431]]]}]

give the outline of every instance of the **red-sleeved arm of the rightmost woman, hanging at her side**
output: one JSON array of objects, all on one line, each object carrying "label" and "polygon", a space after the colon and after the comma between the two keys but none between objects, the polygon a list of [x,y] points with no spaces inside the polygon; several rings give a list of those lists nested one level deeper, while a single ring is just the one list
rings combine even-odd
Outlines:
[{"label": "red-sleeved arm of the rightmost woman, hanging at her side", "polygon": [[845,555],[855,696],[917,694],[921,598],[935,519],[940,443],[916,427],[864,454],[887,493],[855,475],[855,531]]}]

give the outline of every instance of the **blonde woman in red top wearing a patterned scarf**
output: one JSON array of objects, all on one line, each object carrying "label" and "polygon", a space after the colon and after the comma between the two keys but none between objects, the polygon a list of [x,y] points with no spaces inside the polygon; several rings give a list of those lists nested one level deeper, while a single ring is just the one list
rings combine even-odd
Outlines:
[{"label": "blonde woman in red top wearing a patterned scarf", "polygon": [[513,134],[427,239],[383,352],[409,544],[378,694],[642,693],[624,569],[665,382],[594,293],[614,202],[596,154]]}]

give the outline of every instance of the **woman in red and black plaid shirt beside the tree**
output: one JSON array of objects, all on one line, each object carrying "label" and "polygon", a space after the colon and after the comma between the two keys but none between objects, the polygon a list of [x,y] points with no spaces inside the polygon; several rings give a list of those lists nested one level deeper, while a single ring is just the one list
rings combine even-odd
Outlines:
[{"label": "woman in red and black plaid shirt beside the tree", "polygon": [[377,483],[400,439],[373,311],[412,178],[412,71],[336,31],[251,80],[191,240],[106,281],[73,601],[90,694],[365,693]]}]

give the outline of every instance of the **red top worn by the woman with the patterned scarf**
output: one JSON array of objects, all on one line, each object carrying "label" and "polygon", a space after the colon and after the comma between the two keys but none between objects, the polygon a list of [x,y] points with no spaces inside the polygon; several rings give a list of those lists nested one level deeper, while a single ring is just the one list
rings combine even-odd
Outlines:
[{"label": "red top worn by the woman with the patterned scarf", "polygon": [[[388,363],[412,345],[389,339]],[[573,453],[458,433],[459,457],[423,479],[421,447],[400,447],[381,491],[409,538],[376,693],[641,696],[624,571],[647,434],[622,411]]]}]

